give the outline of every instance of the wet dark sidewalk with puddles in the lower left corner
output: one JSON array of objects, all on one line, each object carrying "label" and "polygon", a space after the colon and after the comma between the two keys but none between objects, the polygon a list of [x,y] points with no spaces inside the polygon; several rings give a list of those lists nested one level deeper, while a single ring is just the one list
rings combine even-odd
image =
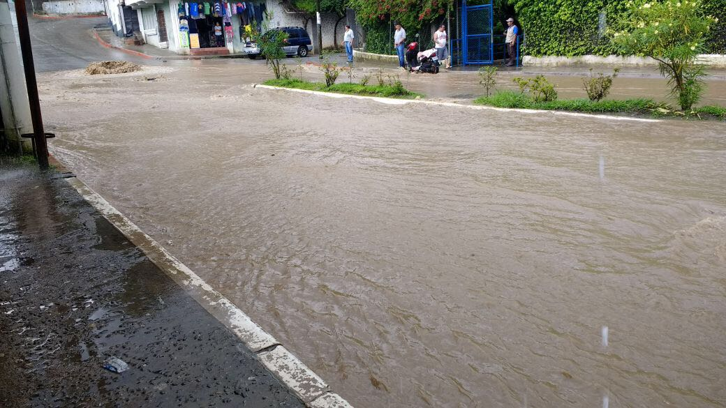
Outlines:
[{"label": "wet dark sidewalk with puddles in the lower left corner", "polygon": [[304,407],[65,176],[0,164],[0,407]]}]

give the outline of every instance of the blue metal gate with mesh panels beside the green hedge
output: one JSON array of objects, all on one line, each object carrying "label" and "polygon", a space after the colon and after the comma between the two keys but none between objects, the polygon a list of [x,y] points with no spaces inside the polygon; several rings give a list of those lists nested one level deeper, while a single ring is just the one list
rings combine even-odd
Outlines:
[{"label": "blue metal gate with mesh panels beside the green hedge", "polygon": [[467,6],[461,2],[462,62],[464,65],[489,65],[494,63],[494,37],[492,4]]}]

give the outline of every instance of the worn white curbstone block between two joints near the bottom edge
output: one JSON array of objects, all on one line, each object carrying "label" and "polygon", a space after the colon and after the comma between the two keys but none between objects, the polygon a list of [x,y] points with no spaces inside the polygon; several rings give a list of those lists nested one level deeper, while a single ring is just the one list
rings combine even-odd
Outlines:
[{"label": "worn white curbstone block between two joints near the bottom edge", "polygon": [[322,378],[285,347],[277,346],[270,351],[261,351],[258,356],[267,370],[272,371],[283,383],[292,388],[306,404],[330,391],[330,387]]}]

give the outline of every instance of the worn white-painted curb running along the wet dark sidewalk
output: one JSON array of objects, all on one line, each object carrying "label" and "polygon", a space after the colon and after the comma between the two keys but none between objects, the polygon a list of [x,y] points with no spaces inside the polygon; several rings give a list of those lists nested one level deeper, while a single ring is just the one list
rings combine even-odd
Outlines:
[{"label": "worn white-painted curb running along the wet dark sidewalk", "polygon": [[282,347],[224,295],[213,289],[181,261],[145,234],[136,224],[110,205],[91,187],[76,177],[66,179],[71,187],[159,267],[171,280],[189,293],[204,309],[252,350],[264,366],[287,385],[308,407],[352,408],[319,375]]}]

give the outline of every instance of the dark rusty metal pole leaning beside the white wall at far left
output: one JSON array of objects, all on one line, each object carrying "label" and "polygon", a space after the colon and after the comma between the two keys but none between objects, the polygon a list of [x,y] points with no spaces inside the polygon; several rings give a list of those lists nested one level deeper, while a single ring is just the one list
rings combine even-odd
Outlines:
[{"label": "dark rusty metal pole leaning beside the white wall at far left", "polygon": [[38,83],[36,82],[36,66],[33,63],[33,46],[30,45],[30,29],[28,28],[28,11],[25,9],[25,0],[15,1],[15,16],[17,18],[17,34],[20,37],[20,53],[23,54],[23,69],[25,69],[25,85],[28,86],[28,101],[30,102],[30,118],[33,121],[33,141],[38,152],[38,165],[41,170],[48,169],[48,144],[43,130],[43,117],[41,116],[41,101],[38,97]]}]

